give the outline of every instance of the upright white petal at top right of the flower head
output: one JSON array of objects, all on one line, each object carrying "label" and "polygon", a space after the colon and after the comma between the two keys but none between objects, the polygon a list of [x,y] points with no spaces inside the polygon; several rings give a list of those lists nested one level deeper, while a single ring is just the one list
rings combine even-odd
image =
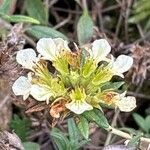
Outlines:
[{"label": "upright white petal at top right of the flower head", "polygon": [[98,64],[102,60],[106,60],[106,56],[110,53],[111,47],[105,39],[95,40],[92,43],[92,49],[89,51],[90,57]]}]

